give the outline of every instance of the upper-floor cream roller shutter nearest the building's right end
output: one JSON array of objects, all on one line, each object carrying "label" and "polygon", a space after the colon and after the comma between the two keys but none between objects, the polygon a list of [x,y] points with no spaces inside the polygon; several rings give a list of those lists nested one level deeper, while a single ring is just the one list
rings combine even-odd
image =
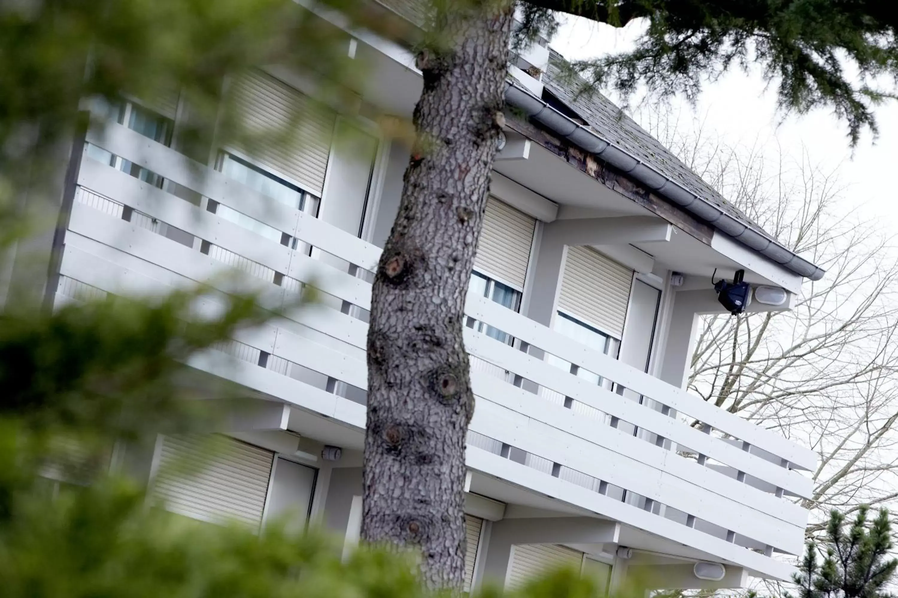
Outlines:
[{"label": "upper-floor cream roller shutter nearest the building's right end", "polygon": [[592,247],[569,247],[559,308],[621,340],[632,282],[627,266]]}]

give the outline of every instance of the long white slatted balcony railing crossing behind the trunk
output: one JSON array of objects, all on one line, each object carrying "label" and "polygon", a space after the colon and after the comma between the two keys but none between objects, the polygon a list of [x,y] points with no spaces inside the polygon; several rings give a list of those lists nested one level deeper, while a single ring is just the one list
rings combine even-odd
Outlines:
[{"label": "long white slatted balcony railing crossing behind the trunk", "polygon": [[[236,268],[240,284],[260,290],[272,306],[314,282],[332,308],[305,310],[243,332],[218,351],[198,356],[194,365],[364,428],[367,325],[343,312],[370,308],[366,280],[380,249],[127,127],[92,130],[88,143],[205,199],[200,205],[180,199],[92,160],[85,150],[58,300],[77,292],[158,294],[209,281],[226,291],[233,280],[216,279],[225,265]],[[305,255],[225,220],[205,209],[208,200],[330,257],[325,263],[314,252]],[[210,299],[207,308],[216,308],[213,303]],[[356,312],[348,305],[357,306]],[[466,313],[532,348],[520,351],[465,329],[467,350],[487,364],[471,373],[478,399],[469,436],[472,469],[758,574],[788,577],[791,569],[770,555],[802,550],[807,513],[794,499],[809,497],[812,487],[796,470],[814,468],[811,451],[489,299],[470,298]],[[213,359],[222,351],[236,364]],[[542,352],[610,383],[596,386],[555,368],[541,359]],[[550,392],[533,394],[512,384],[515,379]],[[553,394],[567,397],[564,404],[543,396]],[[693,420],[700,427],[692,426]]]}]

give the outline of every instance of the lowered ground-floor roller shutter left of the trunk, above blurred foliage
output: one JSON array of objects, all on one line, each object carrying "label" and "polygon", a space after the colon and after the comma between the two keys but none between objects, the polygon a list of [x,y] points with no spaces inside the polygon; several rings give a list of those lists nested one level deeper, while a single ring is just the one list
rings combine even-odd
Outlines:
[{"label": "lowered ground-floor roller shutter left of the trunk, above blurred foliage", "polygon": [[166,436],[153,481],[170,511],[204,521],[262,521],[274,453],[222,437],[210,453],[198,436]]}]

